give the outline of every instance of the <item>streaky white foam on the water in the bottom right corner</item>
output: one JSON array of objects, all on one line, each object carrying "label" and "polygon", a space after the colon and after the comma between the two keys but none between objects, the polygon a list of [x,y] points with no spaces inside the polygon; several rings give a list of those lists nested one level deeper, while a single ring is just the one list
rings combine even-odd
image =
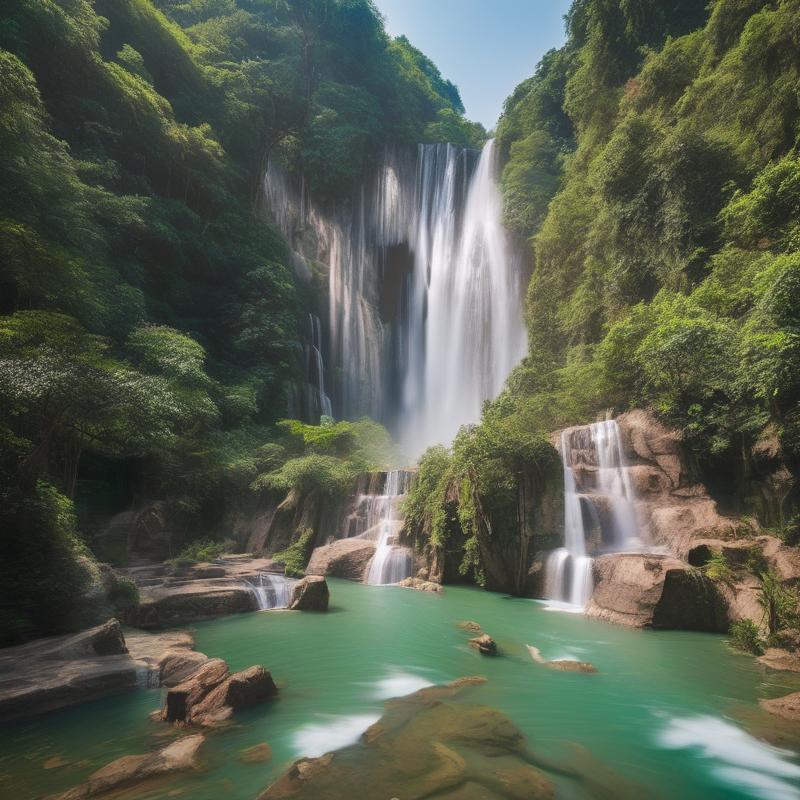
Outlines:
[{"label": "streaky white foam on the water in the bottom right corner", "polygon": [[676,717],[658,736],[669,750],[696,750],[711,773],[762,800],[798,800],[800,765],[788,750],[758,741],[730,722],[708,715]]}]

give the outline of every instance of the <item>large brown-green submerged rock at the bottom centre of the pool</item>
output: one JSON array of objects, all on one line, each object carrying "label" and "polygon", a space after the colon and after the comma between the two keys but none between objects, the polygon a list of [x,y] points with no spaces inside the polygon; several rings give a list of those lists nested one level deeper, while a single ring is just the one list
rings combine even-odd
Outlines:
[{"label": "large brown-green submerged rock at the bottom centre of the pool", "polygon": [[521,731],[495,709],[432,699],[431,690],[448,688],[457,691],[430,687],[391,701],[358,744],[296,761],[260,800],[554,798]]}]

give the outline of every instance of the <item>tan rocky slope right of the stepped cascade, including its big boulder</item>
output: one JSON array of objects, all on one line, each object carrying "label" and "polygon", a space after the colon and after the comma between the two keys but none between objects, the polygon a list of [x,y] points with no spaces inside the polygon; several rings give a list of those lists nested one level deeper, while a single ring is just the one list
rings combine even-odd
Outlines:
[{"label": "tan rocky slope right of the stepped cascade, including its big boulder", "polygon": [[[745,618],[758,623],[756,565],[774,570],[786,585],[797,584],[800,550],[766,535],[753,518],[721,514],[689,469],[679,434],[653,415],[634,410],[617,423],[637,524],[652,552],[597,559],[587,614],[634,626],[711,631]],[[703,567],[720,555],[729,572],[712,580]]]}]

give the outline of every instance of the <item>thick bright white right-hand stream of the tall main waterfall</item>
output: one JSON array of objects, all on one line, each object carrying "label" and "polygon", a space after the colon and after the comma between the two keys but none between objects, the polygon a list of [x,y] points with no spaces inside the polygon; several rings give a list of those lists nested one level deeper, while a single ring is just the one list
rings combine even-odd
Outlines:
[{"label": "thick bright white right-hand stream of the tall main waterfall", "polygon": [[525,351],[496,159],[493,140],[475,167],[452,145],[420,148],[401,425],[415,454],[477,422]]}]

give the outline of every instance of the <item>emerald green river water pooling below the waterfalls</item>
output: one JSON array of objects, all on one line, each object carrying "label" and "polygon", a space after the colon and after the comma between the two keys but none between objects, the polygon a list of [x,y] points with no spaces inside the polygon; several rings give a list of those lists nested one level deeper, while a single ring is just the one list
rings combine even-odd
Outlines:
[{"label": "emerald green river water pooling below the waterfalls", "polygon": [[[798,743],[758,708],[759,698],[800,688],[800,676],[767,673],[724,637],[632,631],[476,589],[436,595],[329,583],[327,614],[267,611],[194,627],[197,649],[232,670],[264,664],[280,697],[209,734],[202,774],[137,799],[253,800],[293,759],[355,741],[385,699],[475,674],[488,682],[463,702],[508,714],[539,755],[584,768],[601,762],[642,797],[800,798]],[[470,648],[463,620],[480,623],[502,655]],[[599,674],[552,671],[526,644],[546,659],[590,661]],[[175,734],[147,718],[161,694],[140,690],[0,728],[0,796],[62,791],[114,758],[162,746]],[[272,760],[242,763],[239,751],[260,742]],[[56,757],[68,763],[43,768]],[[559,797],[573,792],[559,786]]]}]

